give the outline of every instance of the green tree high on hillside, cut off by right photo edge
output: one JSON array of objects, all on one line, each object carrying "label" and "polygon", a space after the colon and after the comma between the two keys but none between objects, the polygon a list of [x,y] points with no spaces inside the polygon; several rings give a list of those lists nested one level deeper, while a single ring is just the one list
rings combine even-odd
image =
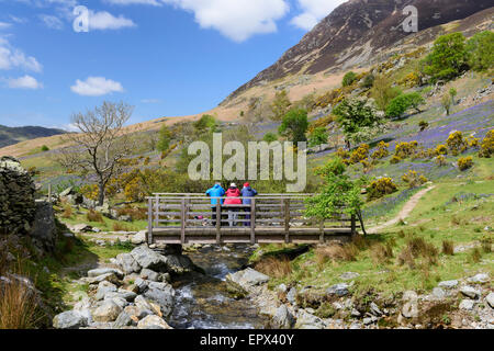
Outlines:
[{"label": "green tree high on hillside, cut off by right photo edge", "polygon": [[470,53],[469,64],[472,69],[483,71],[494,66],[494,33],[484,31],[476,33],[467,43]]}]

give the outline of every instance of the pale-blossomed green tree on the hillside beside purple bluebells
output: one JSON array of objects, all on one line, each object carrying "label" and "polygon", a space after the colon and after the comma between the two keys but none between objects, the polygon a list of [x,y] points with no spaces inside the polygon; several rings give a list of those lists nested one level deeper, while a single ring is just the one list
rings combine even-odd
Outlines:
[{"label": "pale-blossomed green tree on the hillside beside purple bluebells", "polygon": [[374,129],[383,125],[382,113],[375,111],[372,100],[345,99],[333,110],[333,114],[344,131],[348,148],[350,140],[363,141]]}]

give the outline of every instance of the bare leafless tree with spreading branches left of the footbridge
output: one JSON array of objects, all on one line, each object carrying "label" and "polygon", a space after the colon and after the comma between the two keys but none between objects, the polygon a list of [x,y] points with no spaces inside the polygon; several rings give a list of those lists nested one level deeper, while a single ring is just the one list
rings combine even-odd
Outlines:
[{"label": "bare leafless tree with spreading branches left of the footbridge", "polygon": [[127,168],[125,158],[134,149],[130,133],[124,131],[133,110],[133,106],[123,102],[105,101],[86,114],[74,114],[72,125],[80,133],[63,137],[64,143],[70,146],[60,150],[57,161],[88,179],[96,178],[100,206],[104,203],[106,185]]}]

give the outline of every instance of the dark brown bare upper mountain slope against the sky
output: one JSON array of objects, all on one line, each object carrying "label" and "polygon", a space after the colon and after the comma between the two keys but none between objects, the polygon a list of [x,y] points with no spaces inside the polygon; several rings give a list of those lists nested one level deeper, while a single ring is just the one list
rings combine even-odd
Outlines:
[{"label": "dark brown bare upper mountain slope against the sky", "polygon": [[350,0],[336,8],[271,67],[238,88],[243,91],[288,75],[314,75],[368,61],[404,37],[406,5],[418,10],[418,31],[465,19],[493,5],[492,0]]}]

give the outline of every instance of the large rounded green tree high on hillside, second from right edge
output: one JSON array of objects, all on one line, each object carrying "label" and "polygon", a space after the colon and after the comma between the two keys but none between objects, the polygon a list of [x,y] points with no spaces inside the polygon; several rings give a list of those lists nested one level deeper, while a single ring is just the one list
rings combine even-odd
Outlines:
[{"label": "large rounded green tree high on hillside, second from right edge", "polygon": [[424,71],[433,82],[451,80],[468,69],[468,60],[463,34],[446,34],[434,43],[431,53],[425,59]]}]

